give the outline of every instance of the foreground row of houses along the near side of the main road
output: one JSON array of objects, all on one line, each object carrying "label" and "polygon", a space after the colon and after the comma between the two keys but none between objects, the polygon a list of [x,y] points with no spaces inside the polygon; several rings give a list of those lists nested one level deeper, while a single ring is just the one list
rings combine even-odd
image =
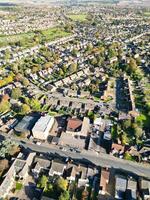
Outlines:
[{"label": "foreground row of houses along the near side of the main road", "polygon": [[122,172],[114,172],[111,168],[93,167],[73,160],[47,159],[43,155],[37,156],[36,153],[19,153],[0,184],[0,197],[6,198],[10,194],[16,178],[23,184],[32,176],[37,183],[43,173],[49,178],[63,177],[69,184],[76,181],[77,188],[92,186],[98,192],[97,199],[110,195],[118,200],[136,200],[139,194],[142,200],[150,198],[148,179],[133,178]]}]

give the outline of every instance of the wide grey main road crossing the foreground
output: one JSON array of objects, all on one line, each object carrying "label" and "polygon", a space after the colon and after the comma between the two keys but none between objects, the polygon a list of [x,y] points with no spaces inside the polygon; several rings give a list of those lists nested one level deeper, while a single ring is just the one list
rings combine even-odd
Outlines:
[{"label": "wide grey main road crossing the foreground", "polygon": [[[3,134],[3,136],[6,137],[6,134]],[[50,145],[50,144],[41,144],[36,145],[30,142],[29,140],[24,140],[25,143],[20,142],[20,138],[16,137],[9,137],[11,140],[14,140],[20,144],[22,144],[25,148],[29,148],[32,151],[37,151],[41,153],[50,153],[55,156],[61,156],[61,157],[71,157],[72,159],[79,159],[81,162],[85,163],[92,163],[97,166],[102,167],[111,167],[118,170],[124,170],[128,173],[133,173],[138,176],[143,176],[146,178],[150,178],[150,167],[148,165],[143,165],[140,163],[122,160],[120,158],[115,158],[114,156],[100,153],[96,154],[95,152],[90,152],[87,150],[83,150],[81,153],[74,153],[71,151],[62,151],[59,149],[58,146]]]}]

